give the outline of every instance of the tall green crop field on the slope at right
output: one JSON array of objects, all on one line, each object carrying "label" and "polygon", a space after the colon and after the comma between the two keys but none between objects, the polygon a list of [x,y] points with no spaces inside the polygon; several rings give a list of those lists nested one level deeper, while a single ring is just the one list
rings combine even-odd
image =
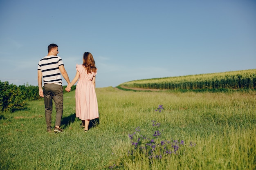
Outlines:
[{"label": "tall green crop field on the slope at right", "polygon": [[255,89],[256,69],[246,71],[233,71],[225,73],[212,73],[201,75],[188,75],[180,77],[165,77],[157,79],[135,80],[120,84],[132,88],[150,89]]}]

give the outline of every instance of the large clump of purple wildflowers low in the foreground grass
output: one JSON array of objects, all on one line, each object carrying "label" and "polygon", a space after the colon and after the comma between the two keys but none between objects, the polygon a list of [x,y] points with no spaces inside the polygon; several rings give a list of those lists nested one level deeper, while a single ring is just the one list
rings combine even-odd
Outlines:
[{"label": "large clump of purple wildflowers low in the foreground grass", "polygon": [[[153,122],[153,128],[159,128],[160,124]],[[136,128],[136,131],[129,134],[130,141],[132,143],[132,149],[128,151],[128,156],[134,157],[134,152],[146,155],[149,159],[162,159],[162,157],[178,154],[177,151],[184,145],[184,141],[173,140],[161,140],[161,133],[159,130],[153,130],[153,134],[150,137],[146,137],[141,134],[140,128]]]}]

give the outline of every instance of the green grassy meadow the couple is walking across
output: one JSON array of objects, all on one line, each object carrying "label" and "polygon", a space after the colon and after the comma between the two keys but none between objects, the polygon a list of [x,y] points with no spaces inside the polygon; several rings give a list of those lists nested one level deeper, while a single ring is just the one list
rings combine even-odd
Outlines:
[{"label": "green grassy meadow the couple is walking across", "polygon": [[[255,91],[96,91],[99,124],[87,133],[74,115],[74,91],[64,94],[63,134],[46,132],[42,99],[29,102],[27,110],[1,113],[0,169],[256,169]],[[159,105],[162,112],[155,111]],[[153,138],[152,120],[160,123],[156,140],[184,141],[177,154],[148,159],[134,149],[129,134],[139,127]]]}]

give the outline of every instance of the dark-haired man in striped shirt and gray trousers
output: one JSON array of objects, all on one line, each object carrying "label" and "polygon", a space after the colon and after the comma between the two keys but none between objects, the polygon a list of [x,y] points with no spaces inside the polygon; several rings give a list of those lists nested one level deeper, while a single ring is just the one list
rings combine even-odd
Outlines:
[{"label": "dark-haired man in striped shirt and gray trousers", "polygon": [[[70,84],[70,79],[64,68],[61,57],[57,56],[57,54],[58,46],[56,44],[50,44],[48,46],[48,55],[39,61],[37,68],[39,95],[44,97],[45,100],[47,132],[52,131],[52,99],[56,107],[54,132],[63,132],[60,128],[63,114],[63,87],[61,75],[67,81],[67,84]],[[42,77],[44,87],[42,87]]]}]

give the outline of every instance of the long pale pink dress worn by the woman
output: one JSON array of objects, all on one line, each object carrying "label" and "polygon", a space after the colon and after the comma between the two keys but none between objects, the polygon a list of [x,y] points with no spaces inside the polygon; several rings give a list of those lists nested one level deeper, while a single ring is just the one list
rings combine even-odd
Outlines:
[{"label": "long pale pink dress worn by the woman", "polygon": [[76,64],[80,76],[76,84],[76,117],[81,120],[92,120],[99,117],[98,102],[92,78],[97,71],[87,74],[82,64]]}]

